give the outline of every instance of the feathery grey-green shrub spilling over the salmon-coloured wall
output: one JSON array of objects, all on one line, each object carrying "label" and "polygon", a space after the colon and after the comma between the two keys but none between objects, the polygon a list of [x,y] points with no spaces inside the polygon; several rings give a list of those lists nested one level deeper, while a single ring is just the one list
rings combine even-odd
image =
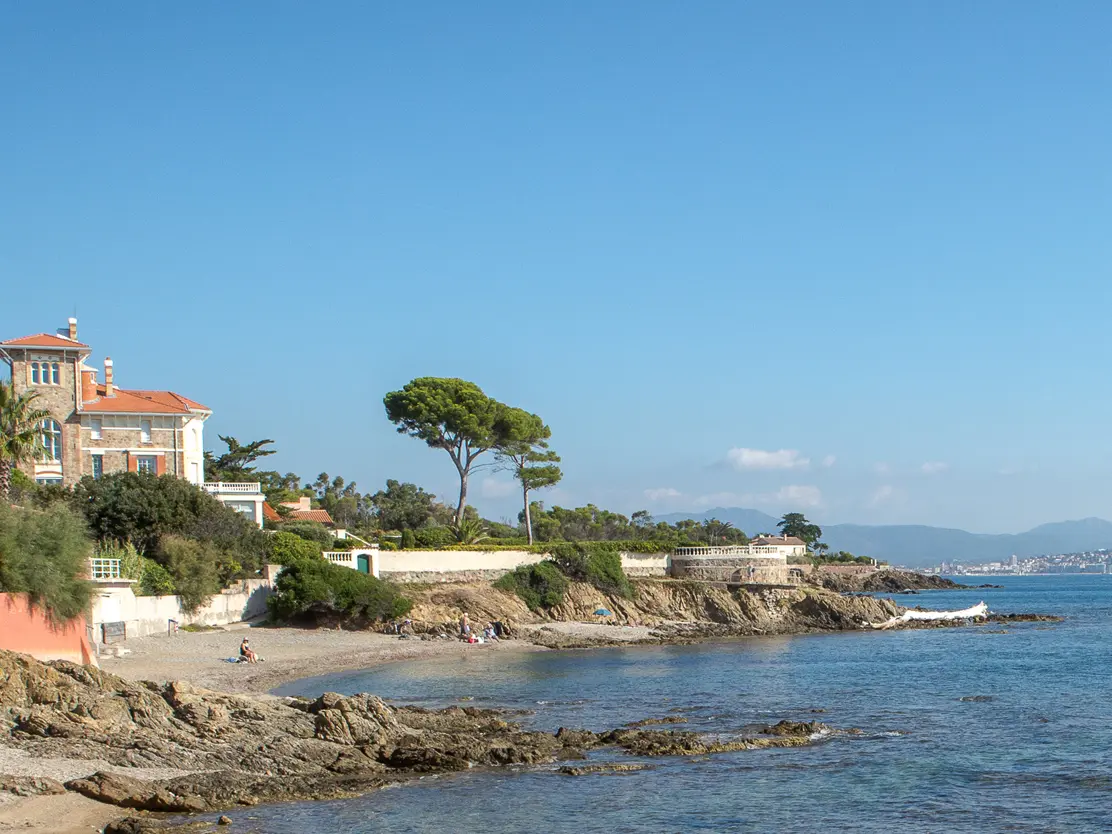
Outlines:
[{"label": "feathery grey-green shrub spilling over the salmon-coloured wall", "polygon": [[0,502],[0,592],[27,594],[54,623],[85,613],[92,543],[85,523],[64,505],[13,509]]}]

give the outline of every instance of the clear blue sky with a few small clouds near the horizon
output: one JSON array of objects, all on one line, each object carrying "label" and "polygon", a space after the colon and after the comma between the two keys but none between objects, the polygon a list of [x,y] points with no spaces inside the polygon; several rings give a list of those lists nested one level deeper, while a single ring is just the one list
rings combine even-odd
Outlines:
[{"label": "clear blue sky with a few small clouds near the horizon", "polygon": [[[22,3],[0,332],[449,502],[381,397],[622,512],[1112,517],[1105,2]],[[504,476],[474,503],[513,516]]]}]

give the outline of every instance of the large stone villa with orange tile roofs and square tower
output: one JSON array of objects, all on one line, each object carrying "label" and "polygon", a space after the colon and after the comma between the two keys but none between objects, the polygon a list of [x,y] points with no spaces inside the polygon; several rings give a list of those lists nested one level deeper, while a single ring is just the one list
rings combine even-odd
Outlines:
[{"label": "large stone villa with orange tile roofs and square tower", "polygon": [[99,381],[98,369],[86,365],[91,353],[77,340],[76,318],[58,334],[0,341],[16,394],[37,391],[36,405],[50,414],[42,457],[20,468],[40,484],[147,471],[202,485],[205,420],[212,411],[173,391],[117,387],[110,358]]}]

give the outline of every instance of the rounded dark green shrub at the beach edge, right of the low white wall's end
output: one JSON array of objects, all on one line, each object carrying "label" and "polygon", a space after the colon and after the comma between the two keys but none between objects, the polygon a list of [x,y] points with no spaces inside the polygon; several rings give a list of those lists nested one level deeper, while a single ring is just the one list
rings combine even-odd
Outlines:
[{"label": "rounded dark green shrub at the beach edge, right of the low white wall's end", "polygon": [[413,603],[395,585],[324,559],[287,565],[267,600],[271,619],[341,619],[367,623],[395,619]]}]

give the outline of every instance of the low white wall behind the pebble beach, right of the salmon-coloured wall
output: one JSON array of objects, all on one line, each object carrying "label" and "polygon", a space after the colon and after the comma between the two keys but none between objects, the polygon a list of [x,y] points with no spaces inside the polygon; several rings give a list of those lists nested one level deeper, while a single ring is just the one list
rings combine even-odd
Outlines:
[{"label": "low white wall behind the pebble beach, right of the salmon-coloured wall", "polygon": [[126,623],[128,637],[166,634],[169,620],[178,625],[226,625],[266,614],[270,579],[247,579],[214,596],[197,614],[182,613],[177,596],[136,596],[130,583],[98,585],[92,598],[93,638],[101,639],[101,623]]}]

